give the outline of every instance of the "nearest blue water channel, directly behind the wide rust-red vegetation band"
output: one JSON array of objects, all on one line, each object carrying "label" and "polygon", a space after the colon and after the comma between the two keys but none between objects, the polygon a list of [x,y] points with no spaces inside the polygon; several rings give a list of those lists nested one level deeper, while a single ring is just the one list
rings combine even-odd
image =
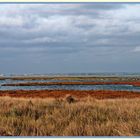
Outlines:
[{"label": "nearest blue water channel, directly behind the wide rust-red vegetation band", "polygon": [[131,85],[49,85],[49,86],[0,86],[0,90],[120,90],[140,91]]}]

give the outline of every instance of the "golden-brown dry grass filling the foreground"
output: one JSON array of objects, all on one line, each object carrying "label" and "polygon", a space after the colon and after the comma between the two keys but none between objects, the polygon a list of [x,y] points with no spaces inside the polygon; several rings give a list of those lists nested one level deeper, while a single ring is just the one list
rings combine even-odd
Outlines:
[{"label": "golden-brown dry grass filling the foreground", "polygon": [[1,97],[0,135],[140,136],[140,99]]}]

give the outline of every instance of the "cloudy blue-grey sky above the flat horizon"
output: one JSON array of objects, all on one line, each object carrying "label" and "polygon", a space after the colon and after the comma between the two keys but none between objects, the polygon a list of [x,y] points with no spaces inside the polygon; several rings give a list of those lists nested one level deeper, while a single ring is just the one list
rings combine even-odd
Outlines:
[{"label": "cloudy blue-grey sky above the flat horizon", "polygon": [[140,71],[140,4],[0,4],[0,73]]}]

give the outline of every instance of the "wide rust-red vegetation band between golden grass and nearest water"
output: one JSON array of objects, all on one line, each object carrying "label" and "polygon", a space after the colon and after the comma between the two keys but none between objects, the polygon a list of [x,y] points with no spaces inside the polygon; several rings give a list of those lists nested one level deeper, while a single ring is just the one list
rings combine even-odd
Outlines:
[{"label": "wide rust-red vegetation band between golden grass and nearest water", "polygon": [[24,98],[61,98],[66,95],[84,98],[87,96],[96,99],[113,98],[140,98],[140,92],[132,91],[111,91],[111,90],[16,90],[0,91],[0,96],[24,97]]}]

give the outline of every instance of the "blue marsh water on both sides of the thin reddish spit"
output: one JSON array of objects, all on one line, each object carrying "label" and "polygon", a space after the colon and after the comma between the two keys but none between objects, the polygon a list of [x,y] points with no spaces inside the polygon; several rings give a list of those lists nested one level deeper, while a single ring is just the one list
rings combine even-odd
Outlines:
[{"label": "blue marsh water on both sides of the thin reddish spit", "polygon": [[[133,77],[134,78],[134,77]],[[47,79],[47,80],[0,80],[0,90],[120,90],[140,91],[140,87],[132,85],[36,85],[36,86],[2,86],[2,84],[29,83],[29,82],[111,82],[111,79]],[[114,81],[114,80],[113,80]]]}]

